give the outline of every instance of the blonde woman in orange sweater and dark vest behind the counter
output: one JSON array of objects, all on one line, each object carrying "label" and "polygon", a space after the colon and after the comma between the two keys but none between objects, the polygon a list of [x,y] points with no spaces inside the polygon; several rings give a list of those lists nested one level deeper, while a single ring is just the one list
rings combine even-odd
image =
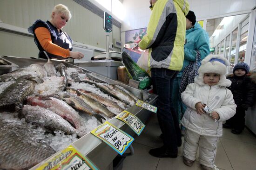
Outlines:
[{"label": "blonde woman in orange sweater and dark vest behind the counter", "polygon": [[[37,19],[28,32],[34,34],[34,42],[39,49],[40,58],[61,58],[72,57],[81,59],[84,55],[81,52],[72,52],[72,39],[61,29],[71,18],[71,13],[67,6],[58,4],[54,6],[50,21]],[[47,56],[45,52],[47,53]]]}]

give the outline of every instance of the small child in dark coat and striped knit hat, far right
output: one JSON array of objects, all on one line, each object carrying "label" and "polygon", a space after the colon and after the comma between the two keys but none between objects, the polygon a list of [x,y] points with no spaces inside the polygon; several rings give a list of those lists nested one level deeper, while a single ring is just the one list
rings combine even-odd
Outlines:
[{"label": "small child in dark coat and striped knit hat, far right", "polygon": [[252,77],[251,74],[248,74],[249,66],[247,63],[236,64],[233,73],[232,75],[228,75],[227,78],[232,82],[229,89],[237,105],[236,114],[227,120],[223,127],[232,128],[232,133],[240,134],[245,125],[245,111],[254,104],[256,84],[250,78]]}]

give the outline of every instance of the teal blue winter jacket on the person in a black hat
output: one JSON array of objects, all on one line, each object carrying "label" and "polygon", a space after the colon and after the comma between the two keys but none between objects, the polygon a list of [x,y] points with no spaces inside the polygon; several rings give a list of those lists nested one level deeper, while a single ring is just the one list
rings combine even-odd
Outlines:
[{"label": "teal blue winter jacket on the person in a black hat", "polygon": [[195,61],[196,50],[200,51],[201,60],[209,55],[210,44],[208,33],[202,29],[201,25],[195,22],[195,25],[186,30],[186,39],[184,45],[184,61],[182,70],[177,77],[182,76],[184,68],[189,65],[190,61]]}]

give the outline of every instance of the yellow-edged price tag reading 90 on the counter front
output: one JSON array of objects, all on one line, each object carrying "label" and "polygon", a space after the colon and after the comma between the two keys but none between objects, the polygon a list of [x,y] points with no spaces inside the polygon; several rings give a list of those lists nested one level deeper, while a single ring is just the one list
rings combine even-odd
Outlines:
[{"label": "yellow-edged price tag reading 90 on the counter front", "polygon": [[92,130],[91,133],[103,140],[120,155],[122,155],[134,141],[133,137],[121,131],[109,122],[101,124]]}]

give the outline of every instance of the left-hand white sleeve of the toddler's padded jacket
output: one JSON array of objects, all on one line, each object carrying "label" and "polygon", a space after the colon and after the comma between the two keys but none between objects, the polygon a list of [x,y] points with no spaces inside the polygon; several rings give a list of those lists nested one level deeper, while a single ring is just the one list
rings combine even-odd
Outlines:
[{"label": "left-hand white sleeve of the toddler's padded jacket", "polygon": [[182,93],[182,102],[189,108],[195,110],[195,104],[201,102],[194,97],[196,83],[191,83],[187,86],[186,90]]}]

